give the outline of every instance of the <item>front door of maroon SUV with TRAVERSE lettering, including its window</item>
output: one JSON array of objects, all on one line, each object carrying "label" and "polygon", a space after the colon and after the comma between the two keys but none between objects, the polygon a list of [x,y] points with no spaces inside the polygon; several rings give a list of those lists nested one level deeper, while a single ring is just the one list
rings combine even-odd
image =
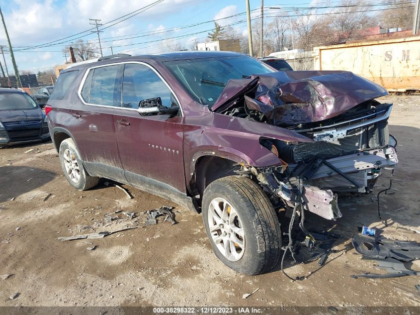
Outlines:
[{"label": "front door of maroon SUV with TRAVERSE lettering, including its window", "polygon": [[[159,101],[158,101],[159,100]],[[142,102],[146,101],[146,102]],[[178,106],[168,85],[144,63],[127,63],[122,84],[122,107],[115,115],[118,150],[127,180],[134,186],[160,186],[186,192],[182,152],[182,115],[141,115],[139,104]]]}]

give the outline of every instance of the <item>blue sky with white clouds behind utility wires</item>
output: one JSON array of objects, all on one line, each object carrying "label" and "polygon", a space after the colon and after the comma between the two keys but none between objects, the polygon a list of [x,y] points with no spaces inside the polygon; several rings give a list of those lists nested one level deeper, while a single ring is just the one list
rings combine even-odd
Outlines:
[{"label": "blue sky with white clouds behind utility wires", "polygon": [[[57,41],[89,30],[92,27],[89,25],[89,18],[101,19],[101,22],[105,24],[155,1],[0,0],[0,7],[11,45],[14,47],[13,52],[19,72],[32,71],[36,73],[38,70],[42,71],[65,62],[62,50],[68,47],[69,43],[62,43],[63,41],[87,35],[82,38],[97,42],[96,33],[90,32]],[[308,2],[311,1],[265,0],[264,6],[286,4],[290,6]],[[253,10],[252,18],[256,18],[259,15],[260,0],[250,0],[250,3],[251,10]],[[163,0],[163,2],[116,25],[111,26],[115,22],[105,24],[110,27],[100,33],[102,51],[104,55],[110,55],[110,46],[112,46],[114,54],[124,52],[132,55],[159,53],[162,52],[163,39],[166,39],[168,45],[180,43],[185,48],[189,48],[195,40],[202,41],[207,36],[208,30],[214,27],[214,23],[209,22],[192,27],[184,26],[221,19],[245,11],[245,0]],[[238,33],[246,34],[245,14],[221,19],[218,22],[222,25],[237,23],[232,27]],[[24,47],[52,41],[55,42],[51,43],[50,47]],[[0,27],[0,45],[7,47],[2,27]],[[5,58],[9,74],[12,75],[13,68],[8,53],[5,54]],[[3,64],[2,58],[0,60]]]}]

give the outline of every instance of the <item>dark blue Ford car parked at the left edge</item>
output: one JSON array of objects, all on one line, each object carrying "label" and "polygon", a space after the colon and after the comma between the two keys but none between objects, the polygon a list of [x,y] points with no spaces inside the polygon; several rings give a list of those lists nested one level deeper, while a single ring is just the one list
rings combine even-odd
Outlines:
[{"label": "dark blue Ford car parked at the left edge", "polygon": [[46,115],[29,94],[0,88],[0,145],[50,138]]}]

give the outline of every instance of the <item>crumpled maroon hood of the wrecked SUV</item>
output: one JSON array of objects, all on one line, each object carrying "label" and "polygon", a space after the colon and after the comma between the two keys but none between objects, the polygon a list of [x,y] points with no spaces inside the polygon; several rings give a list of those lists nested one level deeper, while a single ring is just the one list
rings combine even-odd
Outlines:
[{"label": "crumpled maroon hood of the wrecked SUV", "polygon": [[298,124],[332,118],[385,95],[381,86],[347,71],[280,71],[229,80],[211,110],[220,112],[245,97],[270,124]]}]

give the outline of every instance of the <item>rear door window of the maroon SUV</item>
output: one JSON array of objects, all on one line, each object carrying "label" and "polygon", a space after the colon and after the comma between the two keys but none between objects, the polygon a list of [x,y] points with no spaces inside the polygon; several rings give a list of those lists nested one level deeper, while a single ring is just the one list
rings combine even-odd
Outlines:
[{"label": "rear door window of the maroon SUV", "polygon": [[91,82],[89,82],[89,73],[82,88],[85,102],[95,105],[121,106],[122,69],[123,65],[114,65],[90,70],[93,72]]}]

